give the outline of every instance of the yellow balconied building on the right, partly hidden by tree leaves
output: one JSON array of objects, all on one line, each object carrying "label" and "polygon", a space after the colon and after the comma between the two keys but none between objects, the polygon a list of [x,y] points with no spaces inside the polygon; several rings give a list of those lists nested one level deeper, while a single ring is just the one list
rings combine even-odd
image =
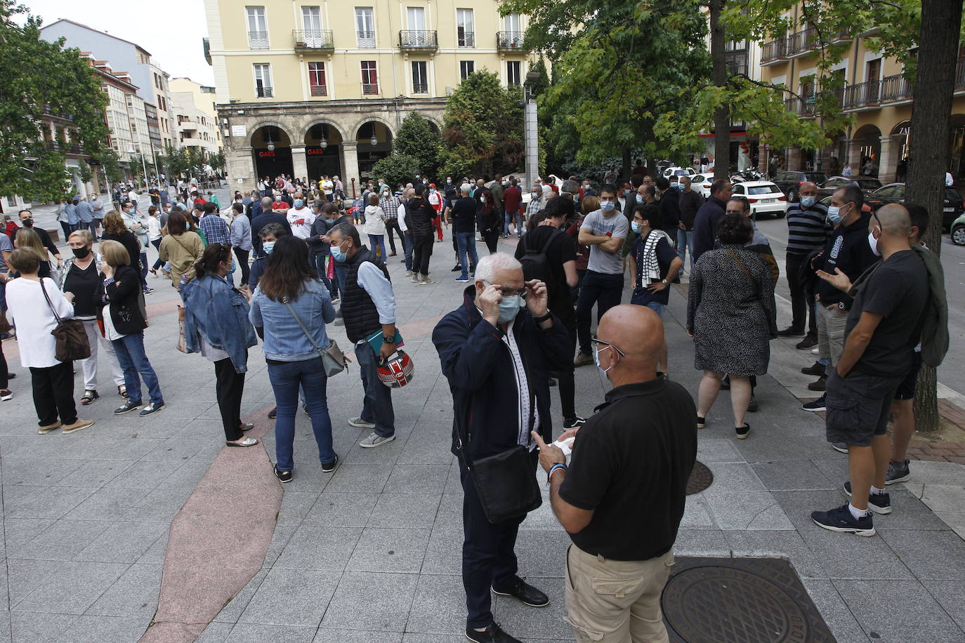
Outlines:
[{"label": "yellow balconied building on the right, partly hidden by tree leaves", "polygon": [[[799,19],[796,21],[800,22]],[[821,89],[816,68],[821,41],[850,43],[831,73],[844,80],[839,99],[844,112],[853,116],[852,125],[845,131],[828,132],[831,143],[823,150],[788,148],[779,152],[784,169],[831,173],[840,172],[845,164],[850,164],[854,174],[862,174],[867,168],[884,182],[904,180],[905,163],[902,160],[914,153],[908,145],[912,90],[901,75],[903,67],[900,63],[868,48],[866,39],[876,33],[877,30],[871,30],[855,39],[826,33],[819,36],[814,25],[805,24],[800,31],[788,34],[786,38],[760,44],[759,78],[785,84],[792,92],[800,94],[802,98],[786,100],[787,110],[797,112],[803,119],[813,119],[813,100],[810,98]],[[955,72],[951,112],[949,170],[956,178],[965,174],[965,60],[962,55],[959,53]],[[761,163],[767,153],[763,148],[758,150]],[[868,164],[869,159],[873,168]]]}]

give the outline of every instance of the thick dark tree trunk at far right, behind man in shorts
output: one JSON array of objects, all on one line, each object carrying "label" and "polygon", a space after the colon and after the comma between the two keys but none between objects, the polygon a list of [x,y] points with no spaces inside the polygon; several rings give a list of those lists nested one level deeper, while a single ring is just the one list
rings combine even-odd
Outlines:
[{"label": "thick dark tree trunk at far right, behind man in shorts", "polygon": [[[918,75],[911,114],[911,154],[905,198],[928,210],[924,242],[940,254],[945,173],[949,167],[951,95],[954,93],[955,58],[962,3],[922,0],[922,34],[918,39]],[[935,369],[924,366],[915,394],[919,431],[938,429]]]}]

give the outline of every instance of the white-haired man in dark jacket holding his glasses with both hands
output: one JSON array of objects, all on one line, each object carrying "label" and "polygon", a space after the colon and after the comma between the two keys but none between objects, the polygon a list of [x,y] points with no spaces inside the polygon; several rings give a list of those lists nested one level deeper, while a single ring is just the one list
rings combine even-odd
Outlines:
[{"label": "white-haired man in dark jacket holding his glasses with both hands", "polygon": [[455,409],[453,453],[462,481],[462,582],[466,590],[466,638],[482,643],[518,643],[493,621],[490,589],[531,606],[549,604],[537,588],[516,576],[513,552],[523,518],[486,519],[465,457],[478,461],[517,445],[526,447],[536,475],[538,453],[530,431],[551,441],[548,370],[569,368],[572,348],[566,329],[548,310],[546,285],[523,281],[512,256],[483,257],[462,306],[432,332]]}]

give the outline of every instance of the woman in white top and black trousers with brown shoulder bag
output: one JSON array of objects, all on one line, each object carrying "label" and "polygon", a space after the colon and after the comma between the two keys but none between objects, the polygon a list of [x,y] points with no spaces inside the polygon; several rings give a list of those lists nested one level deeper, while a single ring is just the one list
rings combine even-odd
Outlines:
[{"label": "woman in white top and black trousers with brown shoulder bag", "polygon": [[41,257],[32,248],[14,250],[10,265],[20,276],[7,282],[8,314],[16,327],[20,363],[30,368],[34,408],[40,419],[37,432],[43,435],[63,426],[64,433],[73,433],[94,424],[77,417],[73,364],[57,359],[57,340],[50,335],[57,327],[57,317],[73,316],[69,298],[53,280],[38,277]]}]

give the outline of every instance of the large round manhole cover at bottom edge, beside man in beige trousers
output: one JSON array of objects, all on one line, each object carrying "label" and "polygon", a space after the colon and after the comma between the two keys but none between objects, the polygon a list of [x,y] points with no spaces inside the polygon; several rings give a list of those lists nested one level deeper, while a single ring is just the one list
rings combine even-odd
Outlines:
[{"label": "large round manhole cover at bottom edge, beside man in beige trousers", "polygon": [[731,567],[694,567],[671,577],[663,593],[667,623],[690,643],[803,643],[805,608],[779,584]]}]

